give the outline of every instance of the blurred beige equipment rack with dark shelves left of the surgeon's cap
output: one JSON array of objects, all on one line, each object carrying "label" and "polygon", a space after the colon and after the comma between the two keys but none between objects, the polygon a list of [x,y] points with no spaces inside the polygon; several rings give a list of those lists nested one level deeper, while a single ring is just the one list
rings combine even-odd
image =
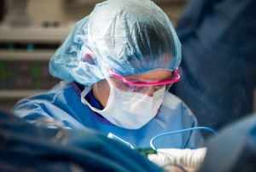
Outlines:
[{"label": "blurred beige equipment rack with dark shelves left of the surgeon's cap", "polygon": [[9,110],[20,98],[59,82],[49,75],[48,61],[71,26],[32,26],[27,0],[4,4],[6,14],[0,25],[0,108]]}]

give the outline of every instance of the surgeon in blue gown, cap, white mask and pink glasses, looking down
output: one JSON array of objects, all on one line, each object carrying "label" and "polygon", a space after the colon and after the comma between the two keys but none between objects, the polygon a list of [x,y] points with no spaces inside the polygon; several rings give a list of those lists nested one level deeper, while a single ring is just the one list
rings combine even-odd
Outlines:
[{"label": "surgeon in blue gown, cap, white mask and pink glasses, looking down", "polygon": [[[180,61],[176,32],[155,3],[108,0],[73,27],[49,60],[49,72],[63,81],[20,100],[12,111],[28,122],[48,117],[147,148],[155,135],[197,125],[183,101],[167,91],[180,78]],[[204,141],[192,130],[154,144],[196,148]]]}]

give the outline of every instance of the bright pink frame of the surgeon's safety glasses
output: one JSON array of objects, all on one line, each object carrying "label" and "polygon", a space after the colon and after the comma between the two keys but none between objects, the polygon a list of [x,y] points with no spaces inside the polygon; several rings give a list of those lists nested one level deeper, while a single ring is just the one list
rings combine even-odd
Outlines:
[{"label": "bright pink frame of the surgeon's safety glasses", "polygon": [[165,84],[176,83],[177,81],[180,80],[180,75],[178,74],[178,68],[172,72],[172,76],[171,77],[168,77],[168,78],[166,78],[164,80],[156,81],[156,82],[140,82],[140,81],[135,81],[135,80],[132,80],[131,78],[123,77],[123,76],[113,72],[113,70],[110,70],[110,74],[113,77],[117,77],[119,79],[122,79],[123,82],[128,84],[128,85],[138,86],[138,87],[165,85]]}]

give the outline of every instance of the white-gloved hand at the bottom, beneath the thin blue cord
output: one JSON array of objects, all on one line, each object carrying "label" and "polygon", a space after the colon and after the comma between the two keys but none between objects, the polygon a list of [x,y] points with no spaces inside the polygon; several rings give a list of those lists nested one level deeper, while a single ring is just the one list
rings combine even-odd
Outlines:
[{"label": "white-gloved hand at the bottom, beneath the thin blue cord", "polygon": [[203,162],[207,148],[198,149],[157,149],[157,154],[149,154],[148,159],[160,167],[177,165],[187,170],[199,169]]}]

